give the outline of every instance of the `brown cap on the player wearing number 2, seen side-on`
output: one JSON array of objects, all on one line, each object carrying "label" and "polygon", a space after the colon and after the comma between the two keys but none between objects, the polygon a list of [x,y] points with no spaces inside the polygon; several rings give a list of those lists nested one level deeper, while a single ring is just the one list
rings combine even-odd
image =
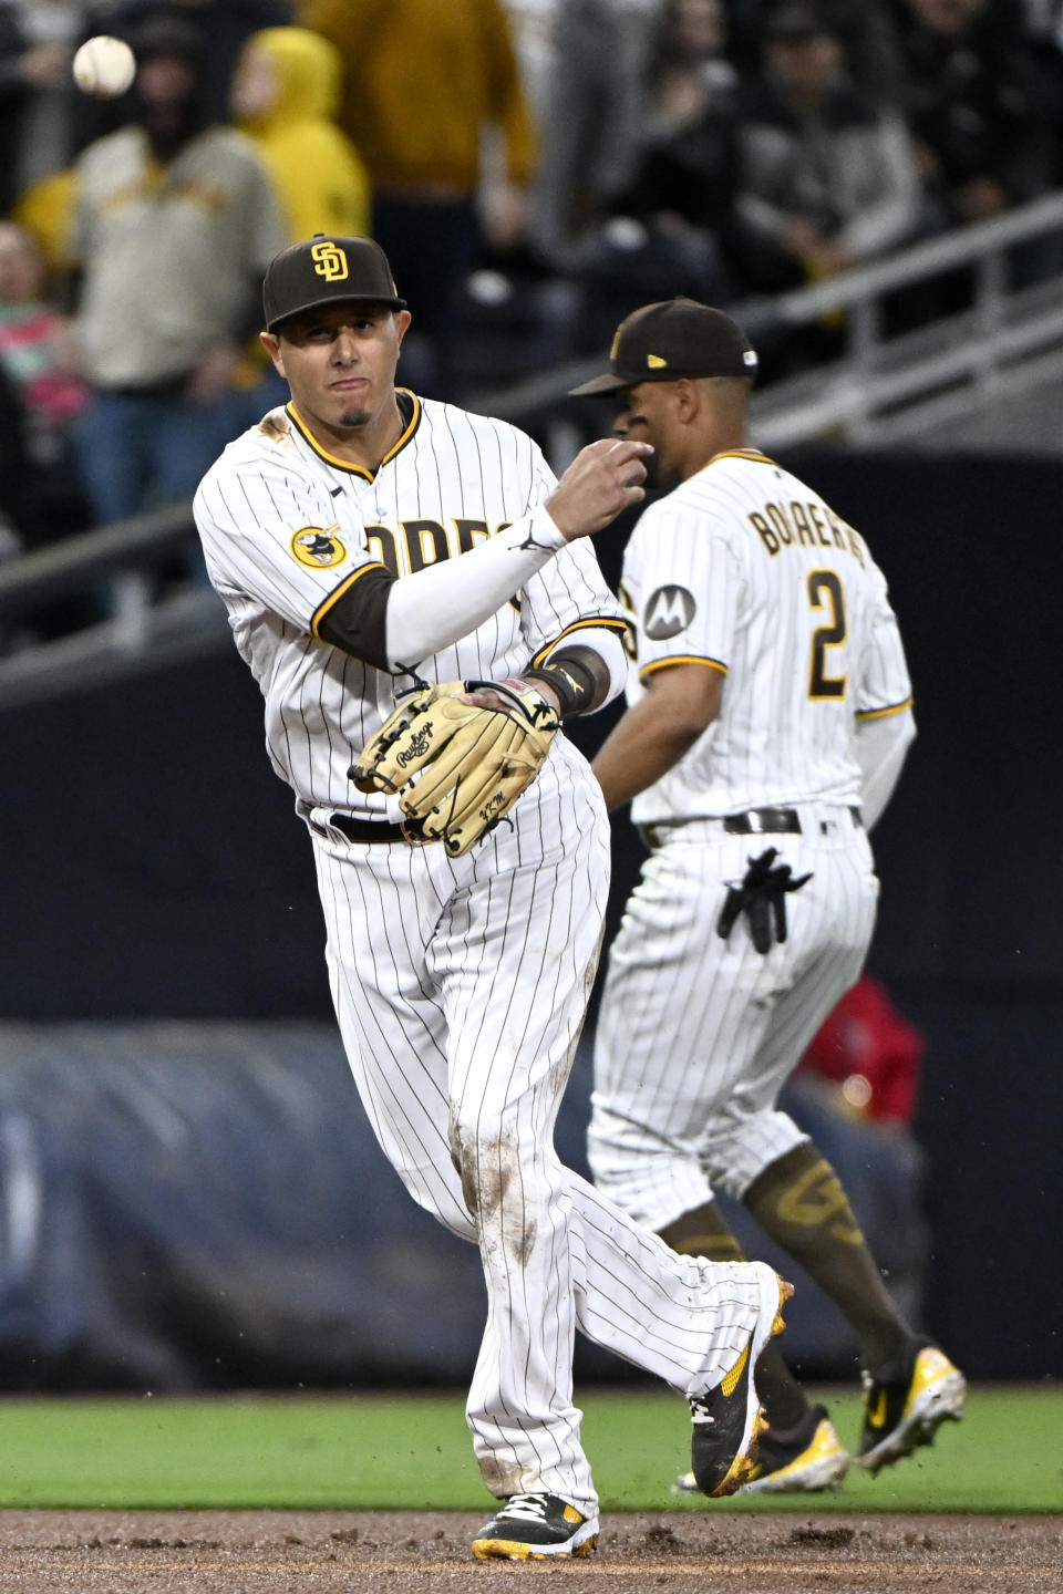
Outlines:
[{"label": "brown cap on the player wearing number 2, seen side-on", "polygon": [[681,376],[755,376],[749,338],[722,309],[674,298],[644,304],[617,327],[609,371],[569,387],[571,394],[607,394],[636,383],[674,383]]}]

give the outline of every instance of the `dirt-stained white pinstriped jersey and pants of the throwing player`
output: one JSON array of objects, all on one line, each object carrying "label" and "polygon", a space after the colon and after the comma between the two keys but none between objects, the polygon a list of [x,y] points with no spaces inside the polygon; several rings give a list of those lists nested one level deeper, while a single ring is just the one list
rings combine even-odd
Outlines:
[{"label": "dirt-stained white pinstriped jersey and pants of the throwing player", "polygon": [[[507,523],[523,537],[520,523],[553,486],[539,448],[512,426],[400,402],[406,430],[376,472],[325,456],[292,406],[271,411],[201,483],[196,524],[266,698],[274,768],[308,821],[328,982],[362,1103],[414,1200],[480,1242],[488,1310],[467,1417],[484,1484],[499,1497],[555,1494],[591,1517],[575,1328],[703,1395],[771,1321],[778,1278],[760,1262],[677,1256],[553,1151],[609,893],[606,805],[572,743],[555,738],[507,823],[461,858],[386,826],[365,835],[335,824],[333,810],[398,818],[360,797],[347,768],[413,674],[320,641],[330,601],[373,563],[403,575]],[[405,663],[429,681],[497,679],[602,625],[623,630],[622,611],[579,540],[470,636]]]}]

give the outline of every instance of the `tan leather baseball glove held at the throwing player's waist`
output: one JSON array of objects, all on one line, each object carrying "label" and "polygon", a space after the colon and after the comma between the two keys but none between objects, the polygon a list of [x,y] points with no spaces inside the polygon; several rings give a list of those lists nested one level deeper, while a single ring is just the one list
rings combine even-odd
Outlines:
[{"label": "tan leather baseball glove held at the throwing player's waist", "polygon": [[[505,709],[462,703],[496,692]],[[406,697],[351,767],[360,792],[398,794],[410,840],[441,840],[461,858],[535,779],[558,714],[526,681],[448,681]]]}]

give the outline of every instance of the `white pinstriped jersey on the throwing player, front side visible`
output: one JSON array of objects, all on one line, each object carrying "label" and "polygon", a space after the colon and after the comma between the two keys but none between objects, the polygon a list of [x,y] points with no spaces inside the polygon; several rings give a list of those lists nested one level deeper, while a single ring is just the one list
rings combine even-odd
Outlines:
[{"label": "white pinstriped jersey on the throwing player, front side visible", "polygon": [[[414,676],[392,676],[311,634],[319,607],[375,563],[406,575],[457,558],[526,516],[555,477],[537,443],[504,421],[400,389],[406,429],[376,472],[327,454],[292,408],[231,443],[194,502],[210,579],[266,698],[274,770],[306,808],[398,818],[347,770]],[[426,681],[499,679],[542,662],[566,633],[622,611],[586,539],[567,544],[513,601],[430,658]]]}]

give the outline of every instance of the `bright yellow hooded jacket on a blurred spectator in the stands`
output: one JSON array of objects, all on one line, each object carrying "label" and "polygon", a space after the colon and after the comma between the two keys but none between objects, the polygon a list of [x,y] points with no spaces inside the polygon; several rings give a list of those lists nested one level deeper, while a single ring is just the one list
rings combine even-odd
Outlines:
[{"label": "bright yellow hooded jacket on a blurred spectator in the stands", "polygon": [[368,236],[370,180],[331,120],[343,78],[339,51],[304,27],[266,27],[244,48],[265,51],[277,73],[273,110],[237,126],[266,163],[292,242],[314,233]]}]

